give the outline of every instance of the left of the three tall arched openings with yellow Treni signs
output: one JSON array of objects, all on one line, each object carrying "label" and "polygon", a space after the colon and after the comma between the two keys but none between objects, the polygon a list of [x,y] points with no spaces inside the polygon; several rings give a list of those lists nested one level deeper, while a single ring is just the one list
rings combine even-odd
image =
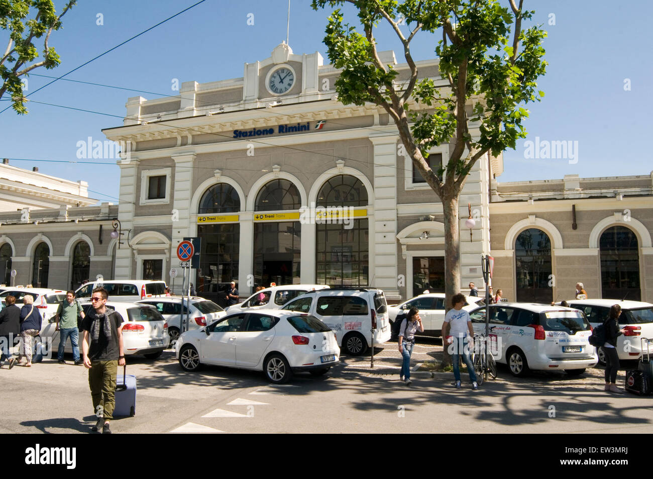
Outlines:
[{"label": "left of the three tall arched openings with yellow Treni signs", "polygon": [[[240,211],[238,192],[227,183],[214,184],[200,198],[198,214],[227,214]],[[219,216],[216,220],[221,220]],[[227,218],[229,219],[229,218]],[[216,222],[197,225],[200,246],[200,268],[197,271],[197,294],[225,305],[225,291],[232,280],[238,280],[240,225],[238,222]]]}]

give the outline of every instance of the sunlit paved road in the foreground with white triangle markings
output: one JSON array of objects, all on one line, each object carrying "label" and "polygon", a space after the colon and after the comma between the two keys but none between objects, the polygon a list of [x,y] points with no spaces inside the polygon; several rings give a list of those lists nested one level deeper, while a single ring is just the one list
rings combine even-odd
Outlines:
[{"label": "sunlit paved road in the foreground with white triangle markings", "polygon": [[[436,340],[422,340],[413,362],[437,350]],[[326,376],[300,374],[287,386],[270,386],[259,372],[183,372],[170,351],[128,359],[138,377],[136,416],[115,420],[115,433],[653,433],[650,397],[605,393],[601,370],[519,380],[500,367],[500,378],[472,392],[469,384],[454,389],[453,375],[415,374],[405,386],[396,344],[378,353],[374,370],[369,357],[344,357]],[[0,369],[0,433],[88,433],[87,374],[53,360]]]}]

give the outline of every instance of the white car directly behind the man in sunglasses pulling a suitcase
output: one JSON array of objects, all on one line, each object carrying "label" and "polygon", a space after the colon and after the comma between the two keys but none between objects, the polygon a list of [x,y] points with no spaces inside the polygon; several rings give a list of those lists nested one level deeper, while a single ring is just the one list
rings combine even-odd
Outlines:
[{"label": "white car directly behind the man in sunglasses pulling a suitcase", "polygon": [[[82,305],[84,312],[91,310],[93,306]],[[168,323],[163,316],[150,305],[138,305],[136,303],[111,303],[107,301],[107,308],[116,310],[123,318],[123,341],[125,355],[144,355],[148,359],[157,359],[170,344],[168,336]],[[43,343],[52,338],[52,356],[55,357],[59,348],[59,331],[55,331],[55,322],[44,322],[41,330],[40,341]],[[80,354],[82,353],[83,331],[79,335]],[[48,348],[50,345],[44,343]],[[72,353],[70,340],[66,341],[64,351]]]}]

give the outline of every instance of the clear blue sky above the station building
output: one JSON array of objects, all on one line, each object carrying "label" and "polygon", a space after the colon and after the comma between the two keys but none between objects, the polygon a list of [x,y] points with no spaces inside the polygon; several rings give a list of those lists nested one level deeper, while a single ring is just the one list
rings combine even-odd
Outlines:
[{"label": "clear blue sky above the station building", "polygon": [[[59,9],[63,3],[55,2]],[[61,65],[33,71],[27,93],[50,81],[37,74],[60,76],[193,3],[80,0],[64,17],[63,29],[50,39]],[[503,3],[507,5],[507,0]],[[287,5],[286,0],[207,0],[66,77],[153,93],[59,80],[30,99],[123,116],[128,97],[176,94],[171,88],[174,78],[180,83],[202,83],[241,77],[245,62],[268,58],[272,48],[285,40]],[[534,21],[549,32],[545,41],[549,67],[539,82],[546,96],[541,103],[528,106],[526,140],[577,142],[572,143],[578,145],[577,162],[529,158],[521,140],[516,150],[505,152],[500,182],[565,174],[649,174],[653,170],[647,148],[652,137],[653,99],[648,90],[653,76],[653,3],[624,6],[608,1],[526,0],[525,5],[536,10]],[[315,12],[308,0],[291,0],[289,38],[295,54],[319,51],[328,63],[322,43],[328,13]],[[98,25],[98,14],[103,25]],[[247,25],[248,14],[253,14],[253,25]],[[0,35],[3,49],[5,38]],[[381,29],[377,39],[382,50],[394,49],[398,61],[403,61],[389,29]],[[438,39],[424,34],[416,40],[413,56],[434,58]],[[4,108],[7,102],[1,104]],[[115,160],[100,160],[103,165],[73,162],[78,161],[78,141],[104,140],[101,130],[121,125],[121,120],[37,103],[27,107],[25,116],[13,110],[0,114],[0,157],[11,158],[12,165],[25,169],[38,166],[41,173],[85,180],[90,197],[117,203]]]}]

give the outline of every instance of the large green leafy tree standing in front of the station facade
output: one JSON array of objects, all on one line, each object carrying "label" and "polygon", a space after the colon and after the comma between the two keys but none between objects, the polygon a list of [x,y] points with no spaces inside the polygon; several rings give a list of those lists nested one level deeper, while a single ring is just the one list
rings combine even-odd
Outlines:
[{"label": "large green leafy tree standing in front of the station facade", "polygon": [[[312,1],[316,10],[345,3],[356,8],[357,27],[345,23],[340,8],[328,17],[328,57],[342,69],[335,86],[338,99],[345,105],[383,107],[413,165],[442,201],[448,308],[460,289],[458,200],[466,178],[479,158],[515,148],[517,139],[526,137],[524,106],[544,95],[536,80],[547,65],[542,47],[547,33],[537,25],[522,28],[534,11],[516,1],[508,0],[507,7],[498,0]],[[410,70],[405,82],[396,80],[398,72],[379,58],[374,32],[381,22],[404,46]],[[441,35],[435,51],[445,88],[428,78],[418,80],[410,47],[420,32]],[[479,134],[471,135],[472,129]],[[426,162],[428,150],[449,143],[454,146],[446,167],[433,171]]]}]

